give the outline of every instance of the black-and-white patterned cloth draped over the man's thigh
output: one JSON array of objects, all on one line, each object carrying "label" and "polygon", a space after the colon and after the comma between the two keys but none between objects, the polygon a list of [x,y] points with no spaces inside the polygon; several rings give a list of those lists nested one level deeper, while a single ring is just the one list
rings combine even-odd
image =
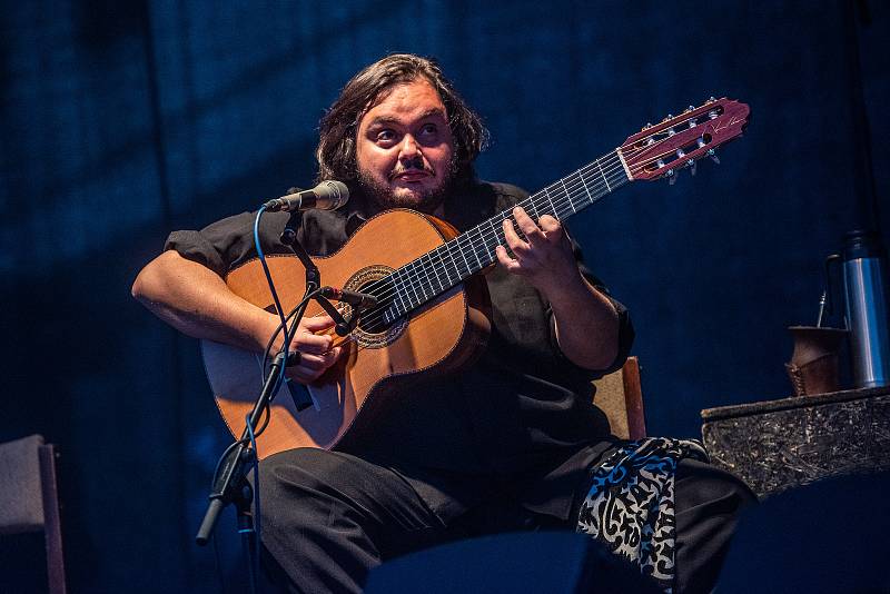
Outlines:
[{"label": "black-and-white patterned cloth draped over the man's thigh", "polygon": [[674,583],[674,475],[684,457],[709,462],[696,439],[624,443],[593,469],[575,529],[639,564],[669,593]]}]

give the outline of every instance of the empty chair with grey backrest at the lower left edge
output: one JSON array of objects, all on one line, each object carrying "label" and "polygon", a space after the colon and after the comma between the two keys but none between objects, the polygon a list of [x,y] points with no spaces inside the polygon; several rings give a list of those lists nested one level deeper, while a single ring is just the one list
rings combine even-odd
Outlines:
[{"label": "empty chair with grey backrest at the lower left edge", "polygon": [[[49,593],[65,594],[56,451],[40,435],[0,444],[0,535],[43,532]],[[36,588],[37,590],[37,588]]]}]

